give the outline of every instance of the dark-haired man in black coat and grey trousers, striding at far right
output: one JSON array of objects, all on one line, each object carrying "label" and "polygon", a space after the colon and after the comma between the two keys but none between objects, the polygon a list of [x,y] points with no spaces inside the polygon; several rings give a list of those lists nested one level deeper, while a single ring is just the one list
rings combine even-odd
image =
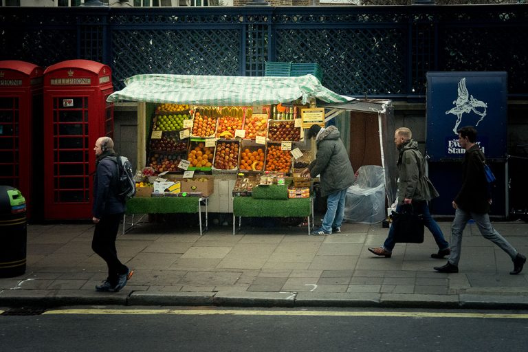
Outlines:
[{"label": "dark-haired man in black coat and grey trousers, striding at far right", "polygon": [[517,252],[503,236],[500,236],[489,221],[487,213],[492,204],[492,195],[489,192],[484,171],[486,159],[481,148],[476,144],[476,129],[473,126],[465,126],[459,129],[459,143],[462,148],[465,148],[465,155],[462,162],[462,188],[452,203],[455,214],[451,225],[451,255],[447,264],[434,267],[434,270],[437,272],[459,272],[462,233],[467,221],[473,219],[482,236],[498,245],[511,257],[511,261],[514,262],[514,270],[509,274],[519,274],[525,265],[526,257]]}]

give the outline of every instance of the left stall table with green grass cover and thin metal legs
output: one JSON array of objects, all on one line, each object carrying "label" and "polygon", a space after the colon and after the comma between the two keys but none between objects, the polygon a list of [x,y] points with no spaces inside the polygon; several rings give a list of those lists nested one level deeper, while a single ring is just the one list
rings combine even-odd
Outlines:
[{"label": "left stall table with green grass cover and thin metal legs", "polygon": [[[123,234],[140,222],[142,217],[134,222],[134,214],[169,214],[173,212],[198,213],[200,236],[203,234],[201,225],[201,206],[205,207],[206,230],[208,229],[209,197],[134,197],[126,201],[126,212],[123,215]],[[126,222],[126,216],[131,215],[132,222]],[[126,225],[130,225],[126,228]]]}]

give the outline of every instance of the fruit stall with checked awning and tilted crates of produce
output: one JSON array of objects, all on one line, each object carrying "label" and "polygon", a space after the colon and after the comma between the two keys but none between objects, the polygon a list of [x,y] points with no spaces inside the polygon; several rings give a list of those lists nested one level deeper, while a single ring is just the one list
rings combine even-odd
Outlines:
[{"label": "fruit stall with checked awning and tilted crates of produce", "polygon": [[[148,179],[161,174],[180,181],[183,188],[186,180],[212,175],[210,212],[232,212],[239,217],[312,214],[310,184],[300,190],[293,182],[275,185],[283,188],[285,199],[273,199],[273,195],[254,199],[252,188],[236,188],[235,184],[248,176],[265,176],[256,186],[269,190],[265,182],[292,176],[296,167],[304,168],[315,154],[312,143],[305,141],[305,129],[313,123],[324,124],[324,109],[311,111],[316,101],[347,102],[351,98],[322,87],[311,75],[139,75],[125,83],[108,100],[141,103],[137,169],[146,169]],[[248,203],[255,201],[260,206]],[[281,201],[279,208],[275,201]],[[277,212],[285,208],[298,210],[294,215]]]}]

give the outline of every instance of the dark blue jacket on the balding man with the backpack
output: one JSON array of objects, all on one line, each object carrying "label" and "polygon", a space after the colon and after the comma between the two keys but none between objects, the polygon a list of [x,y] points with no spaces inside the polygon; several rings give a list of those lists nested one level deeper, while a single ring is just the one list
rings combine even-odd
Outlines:
[{"label": "dark blue jacket on the balding man with the backpack", "polygon": [[[111,154],[110,154],[111,155]],[[101,219],[108,214],[122,214],[125,201],[115,195],[118,183],[118,164],[108,155],[103,155],[96,167],[94,175],[94,217]]]}]

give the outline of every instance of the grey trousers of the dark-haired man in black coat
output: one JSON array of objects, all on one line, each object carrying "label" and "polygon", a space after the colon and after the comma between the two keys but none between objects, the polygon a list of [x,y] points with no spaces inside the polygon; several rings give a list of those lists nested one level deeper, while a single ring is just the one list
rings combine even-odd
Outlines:
[{"label": "grey trousers of the dark-haired man in black coat", "polygon": [[459,265],[462,233],[464,232],[467,221],[470,219],[475,221],[476,227],[485,239],[489,239],[489,241],[498,245],[498,247],[506,252],[511,259],[514,259],[517,256],[517,250],[493,228],[492,223],[489,222],[489,215],[487,213],[478,214],[476,212],[467,212],[458,208],[454,212],[454,220],[451,225],[451,255],[449,256],[449,263],[456,266]]}]

